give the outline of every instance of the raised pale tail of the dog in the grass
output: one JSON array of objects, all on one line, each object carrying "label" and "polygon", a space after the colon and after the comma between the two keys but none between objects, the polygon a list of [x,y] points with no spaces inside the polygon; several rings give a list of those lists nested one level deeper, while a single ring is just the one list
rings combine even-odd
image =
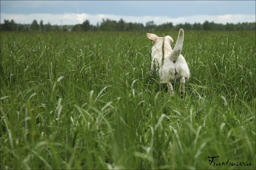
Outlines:
[{"label": "raised pale tail of the dog in the grass", "polygon": [[183,40],[184,40],[184,31],[183,31],[183,29],[180,29],[179,36],[177,38],[177,42],[176,42],[175,47],[172,50],[171,55],[170,55],[171,60],[176,60],[181,55]]}]

